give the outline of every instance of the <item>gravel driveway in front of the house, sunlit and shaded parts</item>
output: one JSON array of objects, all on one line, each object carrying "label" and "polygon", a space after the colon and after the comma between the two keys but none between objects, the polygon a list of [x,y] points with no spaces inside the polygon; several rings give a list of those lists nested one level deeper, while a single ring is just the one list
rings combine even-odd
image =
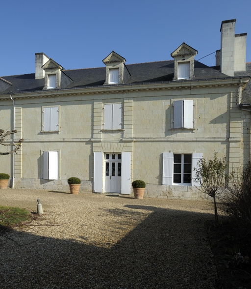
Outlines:
[{"label": "gravel driveway in front of the house, sunlit and shaded parts", "polygon": [[210,202],[7,189],[0,204],[45,214],[0,235],[1,289],[215,289]]}]

